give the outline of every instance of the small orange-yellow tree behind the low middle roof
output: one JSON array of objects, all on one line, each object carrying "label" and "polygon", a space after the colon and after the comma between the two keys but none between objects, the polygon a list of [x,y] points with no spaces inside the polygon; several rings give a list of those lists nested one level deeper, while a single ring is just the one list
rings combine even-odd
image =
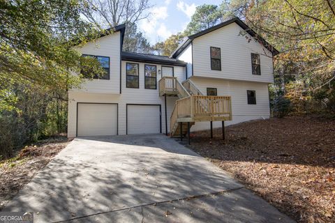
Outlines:
[{"label": "small orange-yellow tree behind the low middle roof", "polygon": [[154,45],[154,50],[163,56],[170,56],[184,39],[184,33],[171,35],[164,42],[158,42]]}]

